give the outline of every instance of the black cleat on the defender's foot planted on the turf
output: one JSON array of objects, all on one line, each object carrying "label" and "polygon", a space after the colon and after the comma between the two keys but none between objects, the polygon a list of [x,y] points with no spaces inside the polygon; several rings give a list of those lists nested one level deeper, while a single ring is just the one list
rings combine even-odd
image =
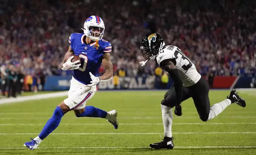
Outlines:
[{"label": "black cleat on the defender's foot planted on the turf", "polygon": [[149,147],[154,149],[173,149],[173,137],[165,137],[161,142],[150,144]]}]

